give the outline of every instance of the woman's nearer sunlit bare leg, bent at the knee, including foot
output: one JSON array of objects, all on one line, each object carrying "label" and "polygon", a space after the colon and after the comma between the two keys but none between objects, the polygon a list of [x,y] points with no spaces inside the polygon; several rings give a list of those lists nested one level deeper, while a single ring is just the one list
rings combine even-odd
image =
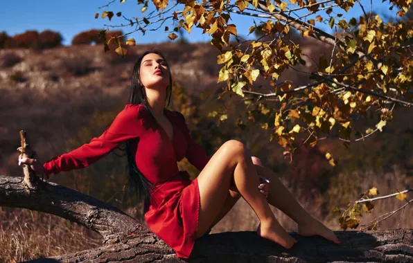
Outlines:
[{"label": "woman's nearer sunlit bare leg, bent at the knee, including foot", "polygon": [[261,221],[261,237],[291,248],[295,239],[276,221],[267,200],[257,190],[258,174],[251,155],[243,143],[236,140],[222,145],[197,177],[201,199],[197,237],[201,237],[218,217],[233,179],[236,188]]}]

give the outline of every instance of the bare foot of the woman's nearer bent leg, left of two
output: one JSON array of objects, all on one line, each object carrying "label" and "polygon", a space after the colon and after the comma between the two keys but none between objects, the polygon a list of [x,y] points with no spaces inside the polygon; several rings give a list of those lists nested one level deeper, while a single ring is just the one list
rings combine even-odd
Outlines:
[{"label": "bare foot of the woman's nearer bent leg, left of two", "polygon": [[297,239],[294,239],[288,235],[278,221],[274,221],[272,224],[264,224],[264,226],[259,224],[256,233],[259,236],[270,239],[287,249],[292,248],[292,246],[297,243]]}]

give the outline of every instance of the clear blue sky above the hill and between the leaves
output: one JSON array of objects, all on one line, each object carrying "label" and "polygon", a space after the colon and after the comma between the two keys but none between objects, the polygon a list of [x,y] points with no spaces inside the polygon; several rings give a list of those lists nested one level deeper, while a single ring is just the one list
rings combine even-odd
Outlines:
[{"label": "clear blue sky above the hill and between the leaves", "polygon": [[[287,1],[287,0],[285,0]],[[386,1],[382,3],[381,0],[371,0],[373,3],[372,10],[378,12],[380,15],[388,15],[396,17],[395,10],[389,11],[389,3]],[[361,0],[364,8],[367,12],[370,10],[370,0]],[[64,37],[64,44],[71,43],[71,39],[77,33],[89,30],[91,28],[103,28],[105,24],[121,24],[125,22],[121,17],[112,18],[112,22],[109,20],[94,18],[96,12],[103,10],[118,12],[121,11],[126,17],[141,17],[141,5],[137,5],[136,0],[127,0],[125,3],[119,3],[118,0],[114,1],[109,8],[99,9],[98,7],[104,6],[109,3],[109,0],[58,0],[58,1],[46,1],[46,0],[15,0],[6,1],[3,0],[0,3],[0,31],[6,31],[8,35],[15,35],[23,33],[26,30],[46,30],[50,29],[58,31]],[[150,1],[150,8],[152,10],[153,4]],[[344,10],[335,9],[340,12],[346,18],[359,17],[362,14],[360,5],[357,3],[349,13],[345,13]],[[303,13],[299,12],[297,15],[301,16]],[[322,15],[325,12],[322,12]],[[231,15],[234,20],[233,23],[237,25],[238,35],[247,35],[249,26],[252,26],[252,20],[245,16],[236,14]],[[170,26],[165,24],[164,26]],[[320,26],[316,24],[316,26]],[[321,25],[322,29],[331,33],[332,30],[327,25]],[[172,26],[170,26],[172,28]],[[126,27],[123,32],[129,32],[130,27]],[[164,33],[164,30],[151,31],[142,35],[141,33],[133,33],[130,37],[134,37],[137,40],[137,44],[159,43],[168,41],[168,34]],[[185,35],[186,39],[190,42],[207,42],[209,35],[202,35],[200,28],[193,28],[192,33]]]}]

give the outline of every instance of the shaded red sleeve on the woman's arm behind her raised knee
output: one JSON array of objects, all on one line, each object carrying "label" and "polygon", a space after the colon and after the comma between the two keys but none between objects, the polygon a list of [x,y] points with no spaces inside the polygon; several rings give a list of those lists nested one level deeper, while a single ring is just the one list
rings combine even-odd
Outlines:
[{"label": "shaded red sleeve on the woman's arm behind her raised knee", "polygon": [[185,117],[176,111],[177,115],[181,119],[182,133],[188,143],[188,148],[186,149],[185,157],[188,159],[189,163],[197,168],[197,170],[202,171],[209,162],[210,157],[207,156],[207,151],[200,147],[191,136],[191,131],[189,131],[188,126],[186,126]]}]

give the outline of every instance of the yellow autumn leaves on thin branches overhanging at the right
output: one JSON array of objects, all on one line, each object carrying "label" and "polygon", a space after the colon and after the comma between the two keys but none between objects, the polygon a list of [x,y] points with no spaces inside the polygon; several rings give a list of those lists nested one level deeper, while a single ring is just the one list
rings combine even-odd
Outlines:
[{"label": "yellow autumn leaves on thin branches overhanging at the right", "polygon": [[[413,21],[404,18],[412,0],[383,2],[389,9],[396,8],[396,19],[383,21],[380,15],[367,14],[373,2],[368,9],[355,0],[184,0],[177,6],[153,1],[155,15],[146,12],[147,2],[138,1],[143,15],[121,26],[135,28],[129,33],[164,28],[172,40],[182,28],[188,33],[200,28],[208,34],[220,51],[218,82],[227,85],[220,96],[238,95],[234,103],[244,107],[240,116],[270,131],[269,140],[279,143],[292,161],[295,152],[315,147],[321,138],[336,138],[349,147],[383,131],[395,109],[413,106]],[[355,5],[363,15],[346,19],[343,13],[351,15]],[[172,15],[159,19],[164,12]],[[114,13],[105,11],[102,18],[111,20]],[[245,18],[243,23],[251,22],[249,33],[257,31],[255,37],[238,35],[231,19],[236,15]],[[336,34],[317,27],[321,24],[328,24]],[[304,67],[306,54],[291,37],[297,34],[331,46],[332,52],[320,55],[312,68]],[[230,41],[231,36],[236,42]],[[121,44],[116,53],[124,56],[127,49]],[[134,46],[135,40],[129,38],[125,44]],[[308,76],[310,82],[282,78],[288,69]],[[218,117],[218,122],[227,120],[225,110],[210,116]],[[364,125],[357,125],[360,119]],[[332,166],[337,164],[331,152],[324,158]],[[342,214],[342,228],[354,228],[359,215]]]}]

